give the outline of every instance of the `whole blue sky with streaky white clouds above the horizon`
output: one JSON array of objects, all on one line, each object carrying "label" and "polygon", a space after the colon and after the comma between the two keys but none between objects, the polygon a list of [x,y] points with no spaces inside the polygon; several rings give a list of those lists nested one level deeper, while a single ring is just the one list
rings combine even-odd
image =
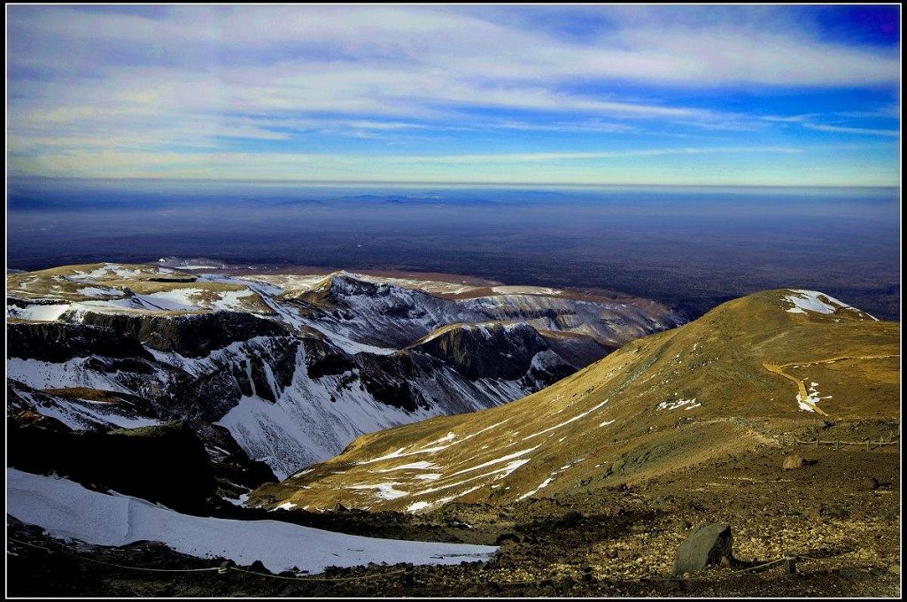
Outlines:
[{"label": "whole blue sky with streaky white clouds above the horizon", "polygon": [[898,5],[7,5],[9,176],[900,185]]}]

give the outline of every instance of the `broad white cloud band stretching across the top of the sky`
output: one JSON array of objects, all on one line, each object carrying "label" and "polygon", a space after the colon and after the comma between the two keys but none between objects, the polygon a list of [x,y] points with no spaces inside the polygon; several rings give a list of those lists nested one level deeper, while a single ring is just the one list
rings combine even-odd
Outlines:
[{"label": "broad white cloud band stretching across the top of the sky", "polygon": [[[895,53],[822,42],[766,11],[691,7],[663,12],[670,19],[644,9],[612,12],[622,15],[612,19],[613,28],[583,43],[477,14],[427,6],[178,6],[155,20],[51,7],[12,10],[11,24],[14,33],[54,36],[77,49],[139,44],[140,51],[168,63],[195,67],[214,66],[212,55],[235,64],[268,61],[272,51],[306,60],[327,54],[371,66],[433,66],[449,71],[452,79],[476,80],[834,85],[896,83],[899,73]],[[680,18],[684,14],[697,18]],[[745,14],[749,20],[741,20]],[[707,15],[714,16],[703,18]],[[185,53],[189,48],[197,52]],[[98,58],[54,55],[53,49],[44,59],[66,68],[78,63],[91,68]]]}]

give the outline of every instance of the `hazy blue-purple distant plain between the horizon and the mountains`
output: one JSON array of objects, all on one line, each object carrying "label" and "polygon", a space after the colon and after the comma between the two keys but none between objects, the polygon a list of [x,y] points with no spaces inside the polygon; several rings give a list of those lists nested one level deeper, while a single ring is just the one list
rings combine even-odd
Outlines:
[{"label": "hazy blue-purple distant plain between the horizon and the mountains", "polygon": [[757,290],[900,311],[898,189],[12,178],[7,267],[208,257],[444,272],[647,296],[689,317]]}]

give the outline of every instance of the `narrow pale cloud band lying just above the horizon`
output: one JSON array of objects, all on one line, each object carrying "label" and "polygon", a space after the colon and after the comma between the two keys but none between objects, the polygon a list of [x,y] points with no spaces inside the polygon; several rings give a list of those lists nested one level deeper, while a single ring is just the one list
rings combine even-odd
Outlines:
[{"label": "narrow pale cloud band lying just above the horizon", "polygon": [[[833,150],[834,152],[834,150]],[[817,160],[810,150],[784,147],[645,149],[626,152],[502,153],[498,155],[349,155],[318,153],[176,153],[76,150],[35,157],[12,156],[11,172],[88,178],[160,178],[284,181],[468,182],[522,184],[662,184],[720,185],[886,185],[892,169],[872,161]],[[711,154],[714,159],[698,160]],[[747,153],[749,157],[735,157]],[[840,154],[840,153],[839,153]],[[688,155],[686,160],[681,155]],[[837,155],[834,155],[837,156]],[[670,157],[670,160],[663,160]],[[798,170],[778,171],[773,157],[796,161]],[[893,177],[897,177],[896,168]]]}]

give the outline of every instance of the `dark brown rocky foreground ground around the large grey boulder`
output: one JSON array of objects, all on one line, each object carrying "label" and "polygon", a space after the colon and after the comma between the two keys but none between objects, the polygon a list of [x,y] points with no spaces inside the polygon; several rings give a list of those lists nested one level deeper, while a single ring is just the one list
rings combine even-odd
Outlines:
[{"label": "dark brown rocky foreground ground around the large grey boulder", "polygon": [[[834,431],[834,427],[831,427]],[[827,432],[830,435],[842,433]],[[785,470],[793,455],[805,461]],[[797,462],[799,464],[799,462]],[[447,567],[331,569],[307,580],[229,571],[151,573],[114,568],[12,543],[13,596],[739,596],[896,597],[901,528],[898,447],[867,452],[792,445],[727,456],[639,486],[530,500],[510,508],[451,503],[424,515],[339,510],[327,514],[236,509],[370,536],[501,545],[484,563]],[[675,551],[703,520],[727,522],[735,557],[749,565],[797,557],[795,575],[775,565],[708,568],[670,578]],[[10,536],[54,550],[34,528]],[[70,548],[130,567],[209,568],[159,544]],[[588,568],[587,568],[588,567]],[[583,569],[587,568],[587,580]],[[247,567],[255,570],[253,567]],[[258,568],[260,571],[260,568]],[[286,576],[285,576],[286,577]]]}]

